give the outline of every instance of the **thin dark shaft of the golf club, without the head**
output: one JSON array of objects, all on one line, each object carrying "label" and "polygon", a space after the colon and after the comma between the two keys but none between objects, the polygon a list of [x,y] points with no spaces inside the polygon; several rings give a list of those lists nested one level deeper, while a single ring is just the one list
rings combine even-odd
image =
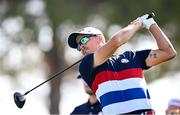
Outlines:
[{"label": "thin dark shaft of the golf club, without the head", "polygon": [[78,64],[82,59],[78,60],[77,62],[75,62],[74,64],[70,65],[69,67],[65,68],[62,71],[59,71],[57,73],[55,73],[51,78],[47,79],[46,81],[42,82],[41,84],[37,85],[36,87],[32,88],[31,90],[27,91],[24,93],[24,95],[27,95],[28,93],[30,93],[31,91],[35,90],[36,88],[38,88],[39,86],[43,85],[44,83],[56,78],[58,75],[62,74],[63,72],[65,72],[66,70],[68,70],[69,68],[73,67],[74,65]]}]

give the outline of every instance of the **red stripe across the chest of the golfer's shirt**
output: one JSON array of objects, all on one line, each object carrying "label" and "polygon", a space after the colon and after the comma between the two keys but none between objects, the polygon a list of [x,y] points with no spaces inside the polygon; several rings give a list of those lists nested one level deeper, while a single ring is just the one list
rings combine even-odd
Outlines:
[{"label": "red stripe across the chest of the golfer's shirt", "polygon": [[119,72],[115,71],[102,71],[95,76],[95,80],[91,86],[93,92],[95,93],[98,85],[111,80],[124,80],[128,78],[143,78],[143,72],[141,68],[131,68],[122,70]]}]

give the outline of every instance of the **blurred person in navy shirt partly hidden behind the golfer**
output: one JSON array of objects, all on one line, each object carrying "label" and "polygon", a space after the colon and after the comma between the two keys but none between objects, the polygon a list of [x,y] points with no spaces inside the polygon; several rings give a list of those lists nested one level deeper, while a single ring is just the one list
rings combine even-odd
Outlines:
[{"label": "blurred person in navy shirt partly hidden behind the golfer", "polygon": [[[77,78],[80,79],[81,76],[79,75]],[[99,101],[97,100],[96,95],[92,92],[92,90],[89,88],[87,83],[84,82],[83,79],[82,79],[82,82],[83,82],[84,90],[89,95],[89,98],[86,103],[83,103],[75,107],[71,115],[72,114],[86,114],[86,115],[101,114],[102,113],[101,105]]]}]

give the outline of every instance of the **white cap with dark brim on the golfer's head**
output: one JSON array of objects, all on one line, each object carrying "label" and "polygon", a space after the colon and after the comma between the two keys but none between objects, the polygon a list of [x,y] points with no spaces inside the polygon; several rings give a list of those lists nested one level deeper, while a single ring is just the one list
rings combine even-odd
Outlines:
[{"label": "white cap with dark brim on the golfer's head", "polygon": [[78,47],[78,43],[76,42],[76,37],[79,34],[102,35],[103,33],[99,29],[94,28],[94,27],[85,27],[85,28],[82,28],[78,31],[75,31],[75,32],[71,33],[68,37],[68,45],[71,48],[77,48]]}]

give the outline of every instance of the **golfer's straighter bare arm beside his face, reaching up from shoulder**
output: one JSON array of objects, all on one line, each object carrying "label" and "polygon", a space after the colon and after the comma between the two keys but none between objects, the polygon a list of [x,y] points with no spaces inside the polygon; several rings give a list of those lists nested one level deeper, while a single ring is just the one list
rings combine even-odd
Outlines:
[{"label": "golfer's straighter bare arm beside his face, reaching up from shoulder", "polygon": [[104,46],[94,53],[94,67],[103,64],[116,49],[126,43],[142,27],[141,22],[128,25],[117,32]]}]

